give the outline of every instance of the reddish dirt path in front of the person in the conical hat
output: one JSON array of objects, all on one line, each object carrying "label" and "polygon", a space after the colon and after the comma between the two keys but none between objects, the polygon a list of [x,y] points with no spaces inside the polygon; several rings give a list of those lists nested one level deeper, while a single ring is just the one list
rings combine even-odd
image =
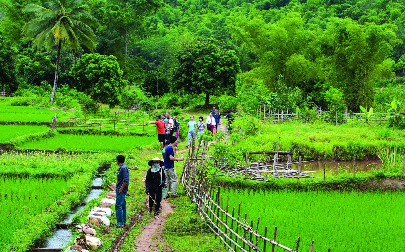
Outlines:
[{"label": "reddish dirt path in front of the person in the conical hat", "polygon": [[166,216],[174,210],[165,199],[160,203],[160,210],[159,219],[152,218],[151,222],[143,227],[142,233],[136,241],[136,252],[161,251],[161,248],[165,248],[164,251],[171,251],[164,246],[162,234]]}]

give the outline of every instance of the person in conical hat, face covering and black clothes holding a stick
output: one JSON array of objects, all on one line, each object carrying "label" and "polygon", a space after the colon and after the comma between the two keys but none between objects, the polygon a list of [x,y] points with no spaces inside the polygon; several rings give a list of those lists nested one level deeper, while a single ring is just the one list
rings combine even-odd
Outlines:
[{"label": "person in conical hat, face covering and black clothes holding a stick", "polygon": [[155,205],[155,219],[159,219],[160,202],[162,201],[162,187],[165,186],[166,176],[164,174],[164,162],[158,157],[149,160],[148,169],[145,178],[145,193],[148,195],[149,214],[152,213],[153,205]]}]

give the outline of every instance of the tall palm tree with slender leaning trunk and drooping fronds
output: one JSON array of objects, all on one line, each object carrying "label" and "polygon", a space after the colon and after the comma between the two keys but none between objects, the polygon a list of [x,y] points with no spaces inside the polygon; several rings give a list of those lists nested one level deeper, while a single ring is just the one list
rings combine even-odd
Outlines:
[{"label": "tall palm tree with slender leaning trunk and drooping fronds", "polygon": [[59,59],[62,46],[71,46],[73,50],[82,42],[90,51],[96,48],[96,38],[91,27],[98,21],[92,17],[89,6],[81,4],[81,0],[49,0],[49,8],[37,4],[28,4],[23,11],[35,13],[35,18],[23,27],[25,38],[34,38],[33,46],[39,49],[45,46],[51,50],[58,44],[55,80],[51,94],[51,104],[55,97],[58,83]]}]

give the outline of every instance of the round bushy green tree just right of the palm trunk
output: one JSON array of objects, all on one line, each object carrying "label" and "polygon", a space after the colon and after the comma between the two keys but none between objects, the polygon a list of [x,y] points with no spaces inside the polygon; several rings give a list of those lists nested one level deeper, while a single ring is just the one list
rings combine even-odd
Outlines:
[{"label": "round bushy green tree just right of the palm trunk", "polygon": [[108,103],[111,107],[119,104],[125,82],[115,56],[86,53],[72,66],[70,73],[77,81],[77,89],[89,94],[94,101]]}]

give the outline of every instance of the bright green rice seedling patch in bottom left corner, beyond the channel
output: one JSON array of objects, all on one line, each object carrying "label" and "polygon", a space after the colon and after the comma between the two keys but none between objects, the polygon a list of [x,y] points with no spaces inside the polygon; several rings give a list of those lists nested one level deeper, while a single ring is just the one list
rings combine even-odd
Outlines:
[{"label": "bright green rice seedling patch in bottom left corner, beyond the channel", "polygon": [[9,244],[17,229],[60,199],[65,179],[0,177],[0,244]]}]

